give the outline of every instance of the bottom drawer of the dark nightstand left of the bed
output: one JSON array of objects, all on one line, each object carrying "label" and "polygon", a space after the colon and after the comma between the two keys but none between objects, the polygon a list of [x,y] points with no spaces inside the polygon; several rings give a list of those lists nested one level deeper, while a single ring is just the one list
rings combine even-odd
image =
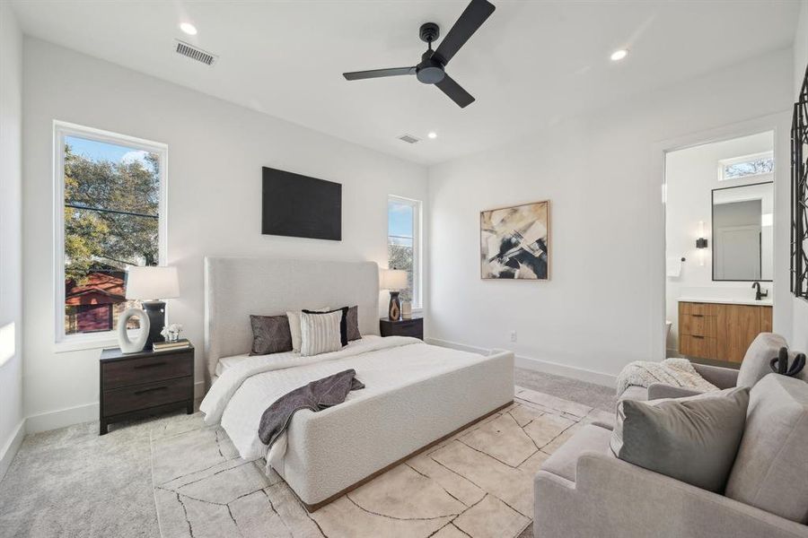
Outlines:
[{"label": "bottom drawer of the dark nightstand left of the bed", "polygon": [[190,376],[107,390],[103,394],[103,416],[193,399],[193,391],[194,381]]}]

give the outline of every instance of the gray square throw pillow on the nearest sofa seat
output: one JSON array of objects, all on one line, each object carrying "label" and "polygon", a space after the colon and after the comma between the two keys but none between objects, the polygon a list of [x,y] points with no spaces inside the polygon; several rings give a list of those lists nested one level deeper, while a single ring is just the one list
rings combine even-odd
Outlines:
[{"label": "gray square throw pillow on the nearest sofa seat", "polygon": [[703,490],[722,492],[741,444],[746,386],[670,400],[618,404],[615,456]]}]

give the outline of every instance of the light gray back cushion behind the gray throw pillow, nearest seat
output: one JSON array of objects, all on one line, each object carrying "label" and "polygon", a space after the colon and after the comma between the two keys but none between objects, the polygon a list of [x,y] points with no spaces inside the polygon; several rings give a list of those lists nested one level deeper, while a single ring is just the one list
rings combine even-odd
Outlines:
[{"label": "light gray back cushion behind the gray throw pillow, nearest seat", "polygon": [[768,374],[751,389],[726,496],[808,523],[808,384]]}]

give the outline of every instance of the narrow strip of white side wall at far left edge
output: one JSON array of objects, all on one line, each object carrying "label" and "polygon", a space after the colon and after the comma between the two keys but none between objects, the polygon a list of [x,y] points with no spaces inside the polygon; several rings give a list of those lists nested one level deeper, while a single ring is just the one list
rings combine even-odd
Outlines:
[{"label": "narrow strip of white side wall at far left edge", "polygon": [[22,33],[0,3],[0,478],[22,442]]}]

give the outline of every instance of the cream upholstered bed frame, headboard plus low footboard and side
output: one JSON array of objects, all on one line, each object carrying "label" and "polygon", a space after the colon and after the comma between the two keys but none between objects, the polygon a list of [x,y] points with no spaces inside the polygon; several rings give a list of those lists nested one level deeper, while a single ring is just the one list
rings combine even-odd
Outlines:
[{"label": "cream upholstered bed frame, headboard plus low footboard and side", "polygon": [[[379,334],[373,262],[207,257],[205,352],[216,362],[250,350],[250,314],[319,306],[359,307],[363,334]],[[462,351],[435,348],[435,353]],[[435,377],[321,412],[299,412],[276,471],[313,511],[514,400],[514,354],[501,351]],[[257,425],[256,425],[257,427]]]}]

